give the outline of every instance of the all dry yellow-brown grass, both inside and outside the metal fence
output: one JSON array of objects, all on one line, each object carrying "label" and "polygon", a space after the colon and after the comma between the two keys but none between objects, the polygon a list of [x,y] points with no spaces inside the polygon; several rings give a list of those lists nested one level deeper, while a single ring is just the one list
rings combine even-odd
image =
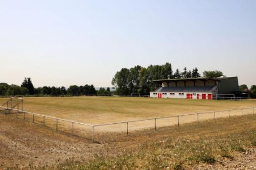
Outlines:
[{"label": "all dry yellow-brown grass, both inside and outside the metal fence", "polygon": [[[0,98],[0,103],[4,101],[6,98]],[[25,111],[91,124],[247,108],[255,104],[253,101],[128,97],[24,98]],[[256,146],[255,115],[246,115],[251,113],[252,109],[245,109],[244,116],[236,116],[241,115],[241,111],[235,111],[230,113],[230,118],[225,118],[227,112],[219,112],[216,121],[212,114],[200,115],[199,124],[195,116],[180,117],[179,128],[171,126],[177,122],[175,118],[157,120],[156,131],[141,130],[153,128],[154,122],[131,123],[129,131],[140,131],[131,131],[129,135],[123,133],[125,124],[102,126],[95,129],[95,143],[63,133],[70,130],[70,124],[59,122],[60,131],[56,132],[42,126],[42,117],[35,116],[37,124],[33,124],[29,114],[26,114],[27,121],[22,120],[23,114],[18,114],[20,119],[15,118],[15,113],[0,114],[0,168],[197,169],[199,163],[207,169],[211,168],[210,162],[222,169],[218,162],[225,162],[226,158],[228,169],[236,168],[230,164],[231,160],[236,157],[240,166],[242,152]],[[54,129],[55,121],[47,121],[46,126],[52,125]],[[84,131],[82,127],[75,127],[76,134]],[[91,129],[88,132],[85,137],[90,139]],[[250,163],[253,158],[243,159]]]}]

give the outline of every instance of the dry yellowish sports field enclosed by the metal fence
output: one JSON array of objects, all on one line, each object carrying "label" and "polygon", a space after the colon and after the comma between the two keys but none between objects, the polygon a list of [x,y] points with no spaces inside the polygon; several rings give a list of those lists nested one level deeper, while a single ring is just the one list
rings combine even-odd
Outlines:
[{"label": "dry yellowish sports field enclosed by the metal fence", "polygon": [[[7,98],[0,98],[0,104]],[[254,101],[231,100],[190,100],[143,97],[34,97],[24,98],[24,110],[38,114],[50,115],[67,120],[89,124],[113,123],[139,120],[162,116],[182,115],[198,112],[222,111],[234,108],[256,106]],[[251,113],[252,111],[248,110]],[[240,112],[231,113],[239,115]],[[246,114],[246,111],[244,111]],[[216,117],[227,117],[223,112]],[[200,120],[213,118],[212,114],[200,115]],[[154,120],[132,123],[129,128],[152,128]],[[196,115],[180,117],[180,123],[196,121]],[[157,120],[157,126],[177,123],[176,118]],[[126,125],[104,126],[106,131],[125,130]]]}]

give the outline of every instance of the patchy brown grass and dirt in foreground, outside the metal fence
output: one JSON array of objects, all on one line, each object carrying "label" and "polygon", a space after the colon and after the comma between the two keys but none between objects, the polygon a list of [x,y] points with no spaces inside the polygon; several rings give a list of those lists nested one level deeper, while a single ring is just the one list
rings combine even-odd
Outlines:
[{"label": "patchy brown grass and dirt in foreground, outside the metal fence", "polygon": [[[247,148],[255,147],[256,143],[255,115],[218,118],[217,121],[188,123],[179,128],[169,126],[157,131],[134,131],[128,136],[111,132],[102,137],[100,143],[68,137],[15,118],[4,118],[1,120],[5,123],[1,125],[0,141],[4,143],[7,136],[16,143],[0,145],[1,151],[15,152],[13,156],[22,155],[24,158],[14,157],[13,160],[19,160],[20,164],[25,162],[28,168],[31,162],[30,168],[33,169],[190,169],[198,164],[219,164],[223,158],[231,160],[237,152],[243,153]],[[8,123],[9,120],[12,121]],[[3,127],[7,129],[3,130]],[[20,143],[26,145],[25,149],[21,149],[23,145]],[[48,145],[51,149],[44,150]],[[70,150],[76,145],[79,148]],[[35,158],[31,156],[33,154],[39,156]],[[38,158],[44,162],[35,164],[31,161]],[[8,158],[1,162],[9,162],[10,165]]]}]

